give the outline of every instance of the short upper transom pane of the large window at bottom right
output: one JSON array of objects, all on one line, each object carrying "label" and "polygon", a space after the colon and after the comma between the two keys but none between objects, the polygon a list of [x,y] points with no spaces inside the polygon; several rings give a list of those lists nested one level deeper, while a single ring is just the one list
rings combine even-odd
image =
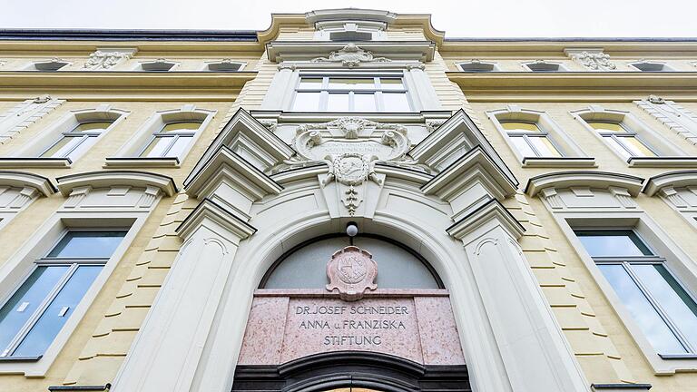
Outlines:
[{"label": "short upper transom pane of the large window at bottom right", "polygon": [[653,255],[632,230],[577,230],[576,235],[593,257]]}]

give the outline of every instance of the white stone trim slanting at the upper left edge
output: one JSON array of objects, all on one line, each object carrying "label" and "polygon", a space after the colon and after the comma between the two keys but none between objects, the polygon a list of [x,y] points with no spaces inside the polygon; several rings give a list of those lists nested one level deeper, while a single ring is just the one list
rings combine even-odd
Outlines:
[{"label": "white stone trim slanting at the upper left edge", "polygon": [[19,132],[39,121],[47,113],[53,112],[64,102],[65,100],[44,95],[19,103],[9,111],[0,114],[0,144],[10,141]]}]

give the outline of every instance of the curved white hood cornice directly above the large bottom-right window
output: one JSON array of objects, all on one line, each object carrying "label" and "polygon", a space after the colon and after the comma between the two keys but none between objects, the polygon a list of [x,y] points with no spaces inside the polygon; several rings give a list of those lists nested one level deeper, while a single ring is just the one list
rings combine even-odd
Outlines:
[{"label": "curved white hood cornice directly above the large bottom-right window", "polygon": [[607,189],[608,187],[624,188],[632,196],[642,191],[643,178],[629,174],[608,171],[556,171],[535,176],[527,181],[525,193],[534,197],[545,188],[569,188],[588,186]]}]

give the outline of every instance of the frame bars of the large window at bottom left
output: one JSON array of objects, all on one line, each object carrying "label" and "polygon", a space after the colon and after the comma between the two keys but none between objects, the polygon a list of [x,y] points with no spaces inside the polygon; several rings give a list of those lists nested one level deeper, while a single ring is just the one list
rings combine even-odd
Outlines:
[{"label": "frame bars of the large window at bottom left", "polygon": [[[85,227],[85,228],[65,228],[61,235],[54,240],[53,245],[48,248],[46,251],[44,251],[44,256],[34,260],[34,267],[29,270],[29,272],[26,274],[26,278],[18,281],[17,284],[15,285],[15,289],[11,290],[11,292],[5,296],[5,298],[0,302],[0,309],[3,309],[5,305],[7,304],[7,301],[12,299],[12,297],[15,295],[17,290],[21,289],[25,282],[26,279],[28,279],[36,269],[39,267],[56,267],[56,266],[66,266],[68,267],[68,270],[66,270],[58,281],[54,283],[53,289],[48,291],[42,302],[39,304],[39,306],[34,310],[34,312],[29,316],[29,319],[25,321],[23,324],[22,328],[18,330],[18,332],[15,334],[15,338],[10,340],[8,346],[6,348],[0,348],[0,358],[6,358],[6,359],[23,359],[25,357],[15,357],[12,356],[11,353],[15,352],[17,348],[25,341],[25,338],[29,335],[29,333],[32,331],[36,323],[41,319],[41,317],[44,315],[45,311],[48,309],[48,307],[53,303],[54,299],[58,296],[58,294],[61,293],[61,291],[64,289],[64,287],[67,285],[67,283],[70,281],[70,279],[74,276],[75,271],[78,269],[80,266],[100,266],[103,267],[106,266],[106,263],[111,259],[111,256],[108,258],[51,258],[48,255],[55,249],[55,247],[60,244],[61,240],[65,238],[71,231],[123,231],[124,235],[122,237],[122,241],[125,238],[126,234],[128,234],[129,228],[126,227],[113,227],[113,228],[97,228],[97,227]],[[121,245],[121,243],[119,244]],[[117,247],[118,248],[118,247]],[[114,250],[115,252],[115,250]],[[100,270],[101,273],[101,270]],[[90,284],[90,287],[93,286],[94,281]],[[89,289],[89,288],[88,288]],[[83,296],[84,298],[84,296]],[[80,299],[78,302],[78,305],[80,302],[83,301],[83,298]],[[72,314],[71,314],[72,316]],[[63,329],[64,327],[61,327]],[[58,330],[58,333],[60,333],[61,329]],[[56,333],[56,335],[58,334]],[[49,345],[50,346],[50,345]],[[43,355],[40,355],[38,358],[41,358]]]}]

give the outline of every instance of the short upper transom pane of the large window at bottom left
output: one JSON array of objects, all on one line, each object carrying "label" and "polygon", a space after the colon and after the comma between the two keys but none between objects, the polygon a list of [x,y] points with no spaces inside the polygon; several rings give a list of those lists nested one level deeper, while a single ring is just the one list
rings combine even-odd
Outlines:
[{"label": "short upper transom pane of the large window at bottom left", "polygon": [[126,231],[71,230],[48,254],[50,258],[108,258],[119,246]]}]

